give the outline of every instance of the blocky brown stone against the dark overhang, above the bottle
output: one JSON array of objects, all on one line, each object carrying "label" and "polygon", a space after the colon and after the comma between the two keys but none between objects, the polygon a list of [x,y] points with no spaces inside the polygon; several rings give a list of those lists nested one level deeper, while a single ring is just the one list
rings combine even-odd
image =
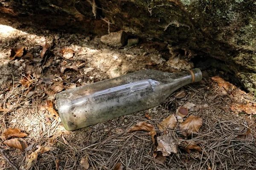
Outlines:
[{"label": "blocky brown stone against the dark overhang, above the bottle", "polygon": [[112,47],[122,47],[127,43],[127,33],[125,31],[111,32],[101,37],[101,42]]}]

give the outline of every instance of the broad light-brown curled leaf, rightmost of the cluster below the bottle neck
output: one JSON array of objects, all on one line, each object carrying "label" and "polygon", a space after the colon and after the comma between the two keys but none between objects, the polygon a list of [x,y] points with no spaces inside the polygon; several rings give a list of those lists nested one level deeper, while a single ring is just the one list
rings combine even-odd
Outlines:
[{"label": "broad light-brown curled leaf, rightmost of the cluster below the bottle neck", "polygon": [[198,116],[189,116],[184,122],[180,124],[181,134],[185,137],[191,136],[192,133],[198,132],[202,126],[202,118]]}]

